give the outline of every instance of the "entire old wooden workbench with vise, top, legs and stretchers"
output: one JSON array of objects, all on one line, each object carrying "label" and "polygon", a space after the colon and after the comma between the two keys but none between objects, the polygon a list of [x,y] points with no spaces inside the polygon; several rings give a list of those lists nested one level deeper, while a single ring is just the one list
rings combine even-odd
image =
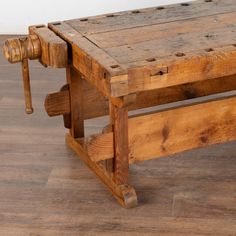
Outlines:
[{"label": "entire old wooden workbench with vise, top, legs and stretchers", "polygon": [[[5,45],[10,62],[22,61],[28,113],[33,110],[26,60],[65,67],[67,84],[47,96],[46,111],[63,115],[67,144],[124,207],[137,204],[128,185],[129,164],[236,139],[234,95],[128,115],[236,89],[235,0],[54,22],[31,26],[29,33]],[[84,120],[107,114],[103,133],[84,137]]]}]

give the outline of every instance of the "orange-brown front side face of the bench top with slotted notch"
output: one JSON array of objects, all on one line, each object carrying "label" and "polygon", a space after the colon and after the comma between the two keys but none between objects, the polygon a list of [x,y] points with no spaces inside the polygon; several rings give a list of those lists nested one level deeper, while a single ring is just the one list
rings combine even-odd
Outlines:
[{"label": "orange-brown front side face of the bench top with slotted notch", "polygon": [[[111,95],[122,96],[138,91],[170,87],[236,74],[235,46],[216,48],[214,51],[201,51],[166,58],[161,64],[137,66],[129,69],[126,83],[120,79],[111,79]],[[168,71],[163,73],[162,71]]]}]

